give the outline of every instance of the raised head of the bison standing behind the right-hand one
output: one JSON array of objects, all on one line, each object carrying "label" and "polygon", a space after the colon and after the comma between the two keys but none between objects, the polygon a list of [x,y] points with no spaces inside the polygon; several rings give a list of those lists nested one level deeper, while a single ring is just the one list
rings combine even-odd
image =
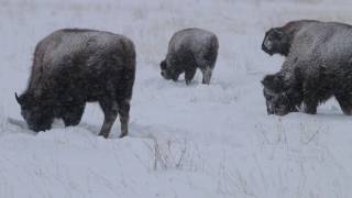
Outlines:
[{"label": "raised head of the bison standing behind the right-hand one", "polygon": [[271,56],[274,54],[287,56],[289,47],[289,36],[279,29],[271,29],[265,33],[262,50]]}]

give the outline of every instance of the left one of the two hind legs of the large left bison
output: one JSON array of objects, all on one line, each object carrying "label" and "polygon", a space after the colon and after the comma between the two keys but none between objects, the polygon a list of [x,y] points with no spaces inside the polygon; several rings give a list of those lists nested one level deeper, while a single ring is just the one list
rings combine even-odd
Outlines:
[{"label": "left one of the two hind legs of the large left bison", "polygon": [[99,100],[99,105],[103,111],[103,124],[99,135],[107,139],[118,117],[118,103],[113,99],[103,99]]}]

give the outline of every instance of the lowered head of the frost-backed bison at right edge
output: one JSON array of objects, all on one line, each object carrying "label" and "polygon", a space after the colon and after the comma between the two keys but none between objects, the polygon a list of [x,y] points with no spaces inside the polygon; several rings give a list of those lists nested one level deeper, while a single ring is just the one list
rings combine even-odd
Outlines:
[{"label": "lowered head of the frost-backed bison at right edge", "polygon": [[268,114],[285,116],[298,111],[301,94],[294,87],[286,85],[282,75],[267,75],[262,80],[264,97]]}]

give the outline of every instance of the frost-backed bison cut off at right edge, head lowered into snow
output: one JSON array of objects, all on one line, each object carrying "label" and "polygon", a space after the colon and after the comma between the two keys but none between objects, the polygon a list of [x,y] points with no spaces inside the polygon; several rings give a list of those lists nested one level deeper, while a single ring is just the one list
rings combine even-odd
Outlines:
[{"label": "frost-backed bison cut off at right edge, head lowered into snow", "polygon": [[263,79],[270,114],[287,114],[302,103],[315,114],[334,96],[344,114],[352,113],[352,26],[315,22],[295,33],[282,69]]}]

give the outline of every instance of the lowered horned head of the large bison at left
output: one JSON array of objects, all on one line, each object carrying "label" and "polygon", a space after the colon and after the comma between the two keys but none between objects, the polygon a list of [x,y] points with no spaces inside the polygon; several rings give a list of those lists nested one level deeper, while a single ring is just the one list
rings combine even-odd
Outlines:
[{"label": "lowered horned head of the large bison at left", "polygon": [[30,130],[35,132],[50,130],[53,122],[52,108],[32,94],[24,92],[20,97],[15,94],[15,99],[21,106],[21,114],[26,121]]}]

